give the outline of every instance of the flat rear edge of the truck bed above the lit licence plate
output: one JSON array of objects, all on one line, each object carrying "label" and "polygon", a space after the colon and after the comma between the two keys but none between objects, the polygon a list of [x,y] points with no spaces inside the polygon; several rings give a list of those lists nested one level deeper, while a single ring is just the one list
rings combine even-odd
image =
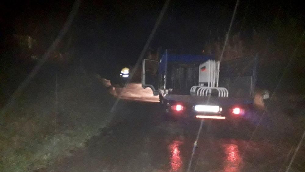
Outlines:
[{"label": "flat rear edge of the truck bed above the lit licence plate", "polygon": [[191,95],[166,94],[163,97],[167,101],[185,102],[188,104],[206,104],[206,105],[221,105],[230,106],[234,104],[252,104],[253,99],[249,98],[230,98],[230,97],[205,97]]}]

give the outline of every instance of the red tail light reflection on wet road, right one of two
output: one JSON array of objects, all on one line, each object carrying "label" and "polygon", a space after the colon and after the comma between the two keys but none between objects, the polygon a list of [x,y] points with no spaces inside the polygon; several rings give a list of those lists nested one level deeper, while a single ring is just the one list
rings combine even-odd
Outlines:
[{"label": "red tail light reflection on wet road, right one of two", "polygon": [[224,144],[224,171],[233,172],[240,171],[242,158],[237,145]]}]

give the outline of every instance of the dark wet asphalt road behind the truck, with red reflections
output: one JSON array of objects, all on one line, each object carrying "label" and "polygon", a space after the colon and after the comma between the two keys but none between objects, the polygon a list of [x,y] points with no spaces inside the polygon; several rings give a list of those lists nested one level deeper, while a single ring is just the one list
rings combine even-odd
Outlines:
[{"label": "dark wet asphalt road behind the truck, with red reflections", "polygon": [[[115,114],[99,136],[48,171],[187,171],[200,122],[167,122],[158,103],[122,100]],[[249,141],[248,135],[204,121],[190,169],[285,171],[291,150],[264,139]],[[299,155],[293,163],[298,166],[297,159],[304,162]],[[295,165],[290,171],[303,168]]]}]

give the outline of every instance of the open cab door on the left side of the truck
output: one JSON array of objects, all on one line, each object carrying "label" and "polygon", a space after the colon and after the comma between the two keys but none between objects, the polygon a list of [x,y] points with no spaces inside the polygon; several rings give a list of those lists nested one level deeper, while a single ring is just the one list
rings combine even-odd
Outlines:
[{"label": "open cab door on the left side of the truck", "polygon": [[151,88],[153,95],[159,95],[159,62],[156,60],[144,59],[142,63],[142,87]]}]

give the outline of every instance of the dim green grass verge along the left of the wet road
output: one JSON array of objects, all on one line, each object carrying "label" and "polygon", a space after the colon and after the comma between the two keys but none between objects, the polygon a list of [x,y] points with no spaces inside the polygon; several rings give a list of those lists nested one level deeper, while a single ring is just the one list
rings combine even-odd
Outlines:
[{"label": "dim green grass verge along the left of the wet road", "polygon": [[0,171],[33,171],[71,155],[112,119],[95,75],[44,68],[1,115]]}]

